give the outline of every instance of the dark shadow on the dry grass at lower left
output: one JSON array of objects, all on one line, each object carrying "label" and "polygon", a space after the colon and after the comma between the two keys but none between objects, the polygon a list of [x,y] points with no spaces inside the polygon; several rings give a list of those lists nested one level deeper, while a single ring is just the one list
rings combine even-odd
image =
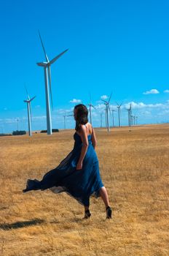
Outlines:
[{"label": "dark shadow on the dry grass at lower left", "polygon": [[12,228],[17,229],[20,227],[28,227],[28,226],[38,225],[43,222],[44,222],[43,219],[32,219],[32,220],[28,220],[25,222],[14,222],[11,224],[5,223],[5,224],[0,224],[0,229],[1,230],[11,230]]}]

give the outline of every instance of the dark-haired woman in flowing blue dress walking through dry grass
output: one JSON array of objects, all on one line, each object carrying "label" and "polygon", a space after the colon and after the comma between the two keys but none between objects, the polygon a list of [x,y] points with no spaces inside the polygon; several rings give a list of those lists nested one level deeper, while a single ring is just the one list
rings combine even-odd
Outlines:
[{"label": "dark-haired woman in flowing blue dress walking through dry grass", "polygon": [[90,196],[100,197],[106,206],[106,218],[111,219],[111,207],[106,187],[99,173],[98,157],[95,153],[95,131],[87,119],[85,105],[74,107],[76,132],[74,148],[55,169],[44,174],[42,181],[28,179],[23,192],[50,189],[54,193],[66,192],[84,206],[84,218],[90,218]]}]

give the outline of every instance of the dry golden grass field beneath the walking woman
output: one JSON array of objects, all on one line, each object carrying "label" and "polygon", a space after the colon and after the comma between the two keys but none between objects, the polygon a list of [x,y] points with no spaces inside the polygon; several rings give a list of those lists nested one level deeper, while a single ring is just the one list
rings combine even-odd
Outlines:
[{"label": "dry golden grass field beneath the walking woman", "polygon": [[23,193],[74,145],[74,130],[0,138],[0,255],[169,255],[169,125],[95,129],[113,218],[91,198],[90,219],[66,193]]}]

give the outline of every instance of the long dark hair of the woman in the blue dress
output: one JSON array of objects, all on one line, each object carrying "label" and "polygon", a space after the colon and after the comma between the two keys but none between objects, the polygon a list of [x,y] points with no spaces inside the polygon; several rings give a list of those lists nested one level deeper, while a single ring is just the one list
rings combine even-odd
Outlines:
[{"label": "long dark hair of the woman in the blue dress", "polygon": [[78,104],[74,107],[74,110],[76,109],[76,131],[79,131],[80,124],[87,124],[88,122],[88,110],[85,105]]}]

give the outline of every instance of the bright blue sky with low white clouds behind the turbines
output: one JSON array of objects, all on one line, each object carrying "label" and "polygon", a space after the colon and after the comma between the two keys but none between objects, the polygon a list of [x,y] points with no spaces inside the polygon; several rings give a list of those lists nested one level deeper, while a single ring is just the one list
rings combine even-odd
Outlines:
[{"label": "bright blue sky with low white clouds behind the turbines", "polygon": [[[0,132],[17,129],[17,118],[28,130],[24,86],[36,95],[33,129],[46,129],[38,29],[50,59],[69,49],[52,64],[53,128],[62,129],[65,111],[88,104],[90,93],[93,126],[100,126],[101,97],[111,91],[111,108],[123,102],[122,125],[130,102],[138,124],[169,121],[168,8],[167,0],[1,1]],[[73,118],[66,127],[74,128]]]}]

